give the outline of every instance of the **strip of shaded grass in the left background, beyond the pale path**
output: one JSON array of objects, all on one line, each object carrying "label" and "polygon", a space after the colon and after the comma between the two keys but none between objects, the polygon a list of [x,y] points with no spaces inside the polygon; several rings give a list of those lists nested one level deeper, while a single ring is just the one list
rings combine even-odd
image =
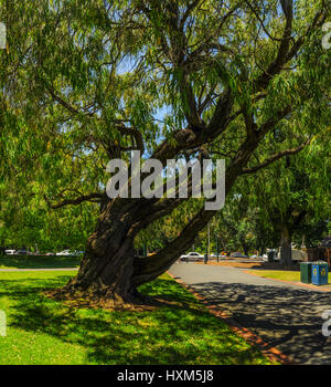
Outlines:
[{"label": "strip of shaded grass in the left background, beyond the pale path", "polygon": [[81,258],[60,255],[0,255],[0,269],[56,269],[76,268],[81,263]]}]

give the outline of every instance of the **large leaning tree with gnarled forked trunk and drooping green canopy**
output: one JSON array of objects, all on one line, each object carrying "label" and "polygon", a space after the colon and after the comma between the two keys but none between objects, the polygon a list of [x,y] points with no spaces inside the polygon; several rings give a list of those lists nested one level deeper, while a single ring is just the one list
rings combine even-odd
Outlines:
[{"label": "large leaning tree with gnarled forked trunk and drooping green canopy", "polygon": [[[8,28],[0,53],[3,176],[54,210],[99,206],[79,272],[63,294],[135,302],[137,287],[163,273],[215,215],[194,201],[157,254],[135,257],[139,232],[185,200],[108,198],[109,159],[130,163],[139,149],[166,167],[167,159],[223,155],[228,195],[239,176],[299,151],[325,124],[323,0],[0,4]],[[279,125],[296,147],[276,144],[256,165]]]}]

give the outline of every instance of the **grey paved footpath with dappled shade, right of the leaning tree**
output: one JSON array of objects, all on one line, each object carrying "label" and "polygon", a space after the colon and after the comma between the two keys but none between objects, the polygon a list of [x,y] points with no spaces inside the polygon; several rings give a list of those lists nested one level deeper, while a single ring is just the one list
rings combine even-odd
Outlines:
[{"label": "grey paved footpath with dappled shade, right of the leaning tree", "polygon": [[175,263],[169,272],[293,363],[331,365],[331,336],[322,335],[330,292],[228,266]]}]

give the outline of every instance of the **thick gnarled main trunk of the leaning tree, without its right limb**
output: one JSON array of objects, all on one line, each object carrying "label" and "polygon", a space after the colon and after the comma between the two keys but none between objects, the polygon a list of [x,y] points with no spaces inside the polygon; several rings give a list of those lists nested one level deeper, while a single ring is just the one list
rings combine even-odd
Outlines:
[{"label": "thick gnarled main trunk of the leaning tree, without its right limb", "polygon": [[[140,212],[140,216],[139,216]],[[95,232],[88,238],[79,271],[55,297],[86,299],[105,307],[141,303],[132,285],[134,238],[143,217],[139,201],[108,200],[102,209]],[[135,229],[136,227],[136,229]]]}]

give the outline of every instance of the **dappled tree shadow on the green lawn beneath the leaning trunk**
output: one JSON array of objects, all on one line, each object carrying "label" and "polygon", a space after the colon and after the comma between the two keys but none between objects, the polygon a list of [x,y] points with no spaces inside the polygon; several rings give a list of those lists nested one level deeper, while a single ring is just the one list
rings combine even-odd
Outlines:
[{"label": "dappled tree shadow on the green lawn beneath the leaning trunk", "polygon": [[[199,306],[173,281],[159,279],[145,294],[173,302],[152,312],[73,308],[41,294],[70,279],[0,281],[14,305],[10,325],[45,333],[86,349],[88,364],[252,364],[261,355]],[[258,360],[257,360],[258,359]]]}]

